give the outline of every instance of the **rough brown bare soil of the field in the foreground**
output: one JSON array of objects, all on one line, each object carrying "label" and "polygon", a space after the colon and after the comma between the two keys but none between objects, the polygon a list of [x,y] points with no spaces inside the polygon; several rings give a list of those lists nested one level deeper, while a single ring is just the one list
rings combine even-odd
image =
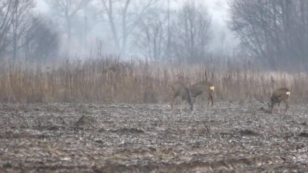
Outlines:
[{"label": "rough brown bare soil of the field in the foreground", "polygon": [[[308,108],[264,103],[0,105],[7,172],[304,172]],[[264,108],[262,108],[264,107]]]}]

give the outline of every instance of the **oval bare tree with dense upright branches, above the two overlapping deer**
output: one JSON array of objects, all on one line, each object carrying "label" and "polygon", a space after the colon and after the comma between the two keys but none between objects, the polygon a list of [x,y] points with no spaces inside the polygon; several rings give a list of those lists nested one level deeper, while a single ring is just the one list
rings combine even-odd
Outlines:
[{"label": "oval bare tree with dense upright branches, above the two overlapping deer", "polygon": [[211,39],[211,17],[207,9],[193,1],[186,1],[174,26],[172,46],[175,57],[182,63],[204,60]]}]

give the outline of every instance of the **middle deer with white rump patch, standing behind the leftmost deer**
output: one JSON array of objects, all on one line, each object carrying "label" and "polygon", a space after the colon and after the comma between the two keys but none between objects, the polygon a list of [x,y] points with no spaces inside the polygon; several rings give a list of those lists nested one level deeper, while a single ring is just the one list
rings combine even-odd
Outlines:
[{"label": "middle deer with white rump patch, standing behind the leftmost deer", "polygon": [[212,93],[215,90],[214,85],[208,81],[201,81],[196,84],[190,85],[189,86],[189,91],[190,91],[190,96],[193,97],[193,103],[197,102],[197,97],[199,95],[205,96],[206,94],[208,95],[208,106],[209,106],[209,101],[211,100],[212,102],[212,107],[213,107],[213,96]]}]

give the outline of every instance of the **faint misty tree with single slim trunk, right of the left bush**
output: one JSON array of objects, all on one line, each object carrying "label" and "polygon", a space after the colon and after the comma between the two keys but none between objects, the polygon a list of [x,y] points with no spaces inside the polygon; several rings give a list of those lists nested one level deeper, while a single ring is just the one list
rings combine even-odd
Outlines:
[{"label": "faint misty tree with single slim trunk, right of the left bush", "polygon": [[46,2],[54,8],[59,17],[63,18],[66,23],[66,33],[68,41],[67,54],[70,54],[71,32],[72,32],[72,18],[81,9],[85,8],[90,0],[46,0]]}]

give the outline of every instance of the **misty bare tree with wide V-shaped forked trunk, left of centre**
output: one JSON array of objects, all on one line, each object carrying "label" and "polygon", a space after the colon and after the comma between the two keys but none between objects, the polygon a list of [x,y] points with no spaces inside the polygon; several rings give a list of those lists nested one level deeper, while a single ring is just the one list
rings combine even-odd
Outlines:
[{"label": "misty bare tree with wide V-shaped forked trunk, left of centre", "polygon": [[[127,41],[138,23],[159,0],[101,0],[103,12],[107,15],[114,46],[117,52],[126,56]],[[118,23],[118,21],[120,21]]]}]

